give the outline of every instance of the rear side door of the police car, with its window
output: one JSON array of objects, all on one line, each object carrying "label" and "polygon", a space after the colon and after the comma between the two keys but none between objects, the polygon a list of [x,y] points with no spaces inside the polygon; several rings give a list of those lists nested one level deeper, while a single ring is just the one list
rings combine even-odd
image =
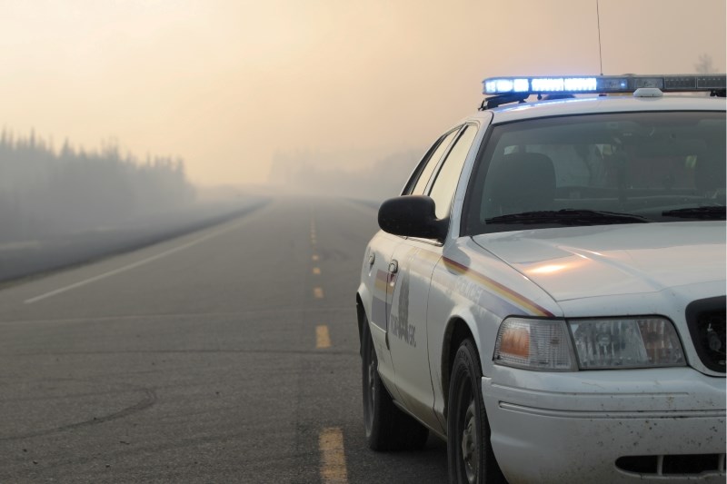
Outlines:
[{"label": "rear side door of the police car, with its window", "polygon": [[[423,193],[429,185],[434,170],[439,166],[444,153],[447,153],[459,128],[444,133],[432,148],[424,155],[422,162],[414,170],[403,194]],[[394,367],[391,359],[390,345],[390,316],[393,301],[393,291],[398,278],[396,263],[393,263],[393,254],[396,248],[405,242],[403,237],[391,235],[380,231],[373,237],[364,256],[364,269],[362,280],[371,296],[371,309],[369,322],[373,345],[379,362],[379,375],[386,388],[392,393],[394,400],[402,398],[396,390],[394,383]]]}]

